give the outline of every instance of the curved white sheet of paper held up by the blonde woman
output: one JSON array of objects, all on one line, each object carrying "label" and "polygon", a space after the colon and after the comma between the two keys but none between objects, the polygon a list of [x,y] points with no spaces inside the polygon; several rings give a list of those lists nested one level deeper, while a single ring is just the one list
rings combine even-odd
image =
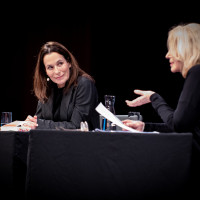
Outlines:
[{"label": "curved white sheet of paper held up by the blonde woman", "polygon": [[122,121],[119,118],[117,118],[113,113],[111,113],[102,103],[99,103],[99,105],[96,107],[96,111],[102,116],[104,116],[106,119],[108,119],[109,121],[111,121],[112,123],[116,124],[121,128],[124,128],[131,132],[140,132],[124,125]]}]

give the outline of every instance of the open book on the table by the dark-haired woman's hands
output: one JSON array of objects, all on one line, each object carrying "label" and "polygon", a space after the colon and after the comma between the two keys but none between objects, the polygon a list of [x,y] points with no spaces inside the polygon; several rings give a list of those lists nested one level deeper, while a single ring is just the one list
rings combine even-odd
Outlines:
[{"label": "open book on the table by the dark-haired woman's hands", "polygon": [[11,123],[1,126],[1,131],[30,131],[31,128],[24,126],[27,123],[26,121],[13,121]]}]

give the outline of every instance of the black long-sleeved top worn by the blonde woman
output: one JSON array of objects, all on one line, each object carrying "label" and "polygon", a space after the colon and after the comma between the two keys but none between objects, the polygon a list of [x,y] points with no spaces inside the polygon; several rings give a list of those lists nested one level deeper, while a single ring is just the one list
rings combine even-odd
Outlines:
[{"label": "black long-sleeved top worn by the blonde woman", "polygon": [[153,108],[172,131],[193,132],[200,144],[200,65],[193,66],[188,71],[175,110],[157,93],[150,100]]}]

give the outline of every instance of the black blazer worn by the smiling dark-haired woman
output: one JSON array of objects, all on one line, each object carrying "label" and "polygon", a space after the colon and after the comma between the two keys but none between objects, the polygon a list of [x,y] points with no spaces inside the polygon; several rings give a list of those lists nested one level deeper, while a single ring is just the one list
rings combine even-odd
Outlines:
[{"label": "black blazer worn by the smiling dark-haired woman", "polygon": [[95,110],[98,93],[93,81],[81,76],[77,86],[72,86],[68,93],[63,95],[59,122],[53,121],[53,99],[52,92],[47,102],[38,101],[38,129],[78,129],[82,121],[87,121],[90,130],[99,128],[99,114]]}]

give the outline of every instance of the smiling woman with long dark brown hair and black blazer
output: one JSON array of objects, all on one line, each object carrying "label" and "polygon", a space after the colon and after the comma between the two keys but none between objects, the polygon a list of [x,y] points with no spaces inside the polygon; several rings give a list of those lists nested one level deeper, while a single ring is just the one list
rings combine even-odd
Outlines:
[{"label": "smiling woman with long dark brown hair and black blazer", "polygon": [[34,93],[39,100],[37,111],[26,118],[31,129],[78,129],[85,121],[90,130],[99,127],[95,81],[62,44],[47,42],[41,47]]}]

